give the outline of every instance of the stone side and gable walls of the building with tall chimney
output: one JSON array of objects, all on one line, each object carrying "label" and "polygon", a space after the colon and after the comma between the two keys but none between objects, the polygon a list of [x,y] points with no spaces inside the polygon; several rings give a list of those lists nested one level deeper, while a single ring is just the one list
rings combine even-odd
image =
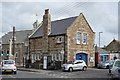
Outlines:
[{"label": "stone side and gable walls of the building with tall chimney", "polygon": [[[44,26],[45,27],[45,26]],[[44,29],[47,30],[47,29]],[[66,30],[67,34],[64,35],[57,35],[57,36],[49,36],[46,39],[46,35],[44,33],[44,37],[41,38],[31,38],[30,39],[30,55],[32,54],[41,54],[42,57],[44,55],[52,56],[52,54],[62,53],[64,52],[64,61],[69,61],[71,58],[76,57],[77,53],[85,53],[87,54],[87,63],[88,66],[93,67],[95,66],[95,62],[90,62],[91,57],[95,58],[94,52],[94,39],[95,33],[91,29],[90,25],[86,21],[83,14],[74,21],[74,23]],[[47,31],[43,31],[47,32]],[[87,43],[80,44],[76,43],[76,35],[77,33],[87,33]],[[57,39],[61,38],[62,42],[57,43]],[[48,42],[45,40],[48,40]],[[81,38],[82,40],[82,38]],[[47,47],[46,47],[47,46]],[[47,51],[46,53],[44,51]],[[31,57],[32,58],[32,57]],[[62,61],[63,62],[63,61]]]}]

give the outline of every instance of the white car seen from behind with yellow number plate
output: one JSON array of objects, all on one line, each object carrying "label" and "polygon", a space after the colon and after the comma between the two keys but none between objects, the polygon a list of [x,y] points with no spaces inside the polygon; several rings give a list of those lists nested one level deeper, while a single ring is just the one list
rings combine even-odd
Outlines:
[{"label": "white car seen from behind with yellow number plate", "polygon": [[14,60],[3,60],[1,66],[2,73],[11,72],[16,74],[17,68]]}]

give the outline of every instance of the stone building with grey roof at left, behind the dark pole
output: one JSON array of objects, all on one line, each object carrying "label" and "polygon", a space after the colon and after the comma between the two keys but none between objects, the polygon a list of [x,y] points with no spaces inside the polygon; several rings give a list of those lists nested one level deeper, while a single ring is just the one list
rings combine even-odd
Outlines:
[{"label": "stone building with grey roof at left, behind the dark pole", "polygon": [[[28,36],[32,30],[15,31],[15,44],[14,44],[14,59],[17,66],[23,66],[25,59],[28,55]],[[2,59],[10,59],[10,40],[12,39],[13,32],[8,32],[2,36]]]}]

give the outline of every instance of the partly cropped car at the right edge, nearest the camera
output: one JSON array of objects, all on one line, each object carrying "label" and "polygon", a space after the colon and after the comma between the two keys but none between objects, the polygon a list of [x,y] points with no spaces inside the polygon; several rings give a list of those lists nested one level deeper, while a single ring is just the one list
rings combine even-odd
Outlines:
[{"label": "partly cropped car at the right edge, nearest the camera", "polygon": [[120,79],[120,59],[115,60],[109,72],[112,78]]}]

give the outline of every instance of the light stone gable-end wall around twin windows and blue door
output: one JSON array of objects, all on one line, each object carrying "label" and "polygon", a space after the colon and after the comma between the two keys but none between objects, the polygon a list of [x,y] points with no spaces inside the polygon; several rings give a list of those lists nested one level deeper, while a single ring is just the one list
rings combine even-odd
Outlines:
[{"label": "light stone gable-end wall around twin windows and blue door", "polygon": [[[74,33],[73,33],[74,32]],[[81,39],[80,39],[80,44],[77,44],[77,38],[76,35],[77,33],[81,33]],[[83,44],[82,43],[82,34],[87,33],[87,43]],[[85,53],[88,55],[88,66],[93,67],[94,62],[90,62],[90,57],[95,58],[95,52],[94,52],[94,38],[95,38],[95,33],[92,31],[91,27],[85,20],[84,16],[81,14],[75,22],[72,24],[70,28],[67,30],[67,36],[68,36],[68,59],[70,60],[71,58],[76,58],[77,53]]]}]

